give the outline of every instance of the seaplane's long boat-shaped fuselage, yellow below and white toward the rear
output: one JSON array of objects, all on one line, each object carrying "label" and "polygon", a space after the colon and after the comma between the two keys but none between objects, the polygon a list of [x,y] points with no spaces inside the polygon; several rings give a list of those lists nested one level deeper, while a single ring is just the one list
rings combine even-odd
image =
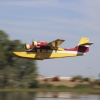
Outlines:
[{"label": "seaplane's long boat-shaped fuselage, yellow below and white toward the rear", "polygon": [[32,58],[36,60],[43,59],[53,59],[53,58],[63,58],[63,57],[74,57],[74,56],[82,56],[84,53],[77,51],[59,51],[59,50],[45,50],[45,49],[37,49],[37,51],[26,51],[26,52],[13,52],[15,55],[22,58]]}]

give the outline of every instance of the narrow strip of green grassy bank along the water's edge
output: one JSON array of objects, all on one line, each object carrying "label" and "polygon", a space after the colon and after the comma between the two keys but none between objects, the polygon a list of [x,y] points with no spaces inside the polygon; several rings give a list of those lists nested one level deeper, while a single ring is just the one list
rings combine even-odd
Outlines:
[{"label": "narrow strip of green grassy bank along the water's edge", "polygon": [[100,88],[95,89],[0,89],[0,92],[71,92],[71,93],[87,93],[100,94]]}]

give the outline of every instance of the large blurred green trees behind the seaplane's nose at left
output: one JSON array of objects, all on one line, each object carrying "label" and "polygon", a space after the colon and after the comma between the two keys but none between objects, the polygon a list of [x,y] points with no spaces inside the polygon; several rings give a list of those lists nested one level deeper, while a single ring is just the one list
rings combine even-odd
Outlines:
[{"label": "large blurred green trees behind the seaplane's nose at left", "polygon": [[36,86],[36,62],[13,54],[13,51],[21,51],[23,48],[24,44],[20,40],[10,40],[0,30],[0,88],[30,87],[30,84]]}]

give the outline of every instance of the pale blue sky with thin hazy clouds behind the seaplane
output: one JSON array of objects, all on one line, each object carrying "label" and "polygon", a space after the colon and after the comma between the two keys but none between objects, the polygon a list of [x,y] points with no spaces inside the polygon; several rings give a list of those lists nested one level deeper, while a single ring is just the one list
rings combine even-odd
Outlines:
[{"label": "pale blue sky with thin hazy clouds behind the seaplane", "polygon": [[44,76],[94,76],[100,74],[100,0],[0,0],[0,30],[11,40],[51,42],[77,46],[81,37],[94,44],[82,57],[36,61]]}]

